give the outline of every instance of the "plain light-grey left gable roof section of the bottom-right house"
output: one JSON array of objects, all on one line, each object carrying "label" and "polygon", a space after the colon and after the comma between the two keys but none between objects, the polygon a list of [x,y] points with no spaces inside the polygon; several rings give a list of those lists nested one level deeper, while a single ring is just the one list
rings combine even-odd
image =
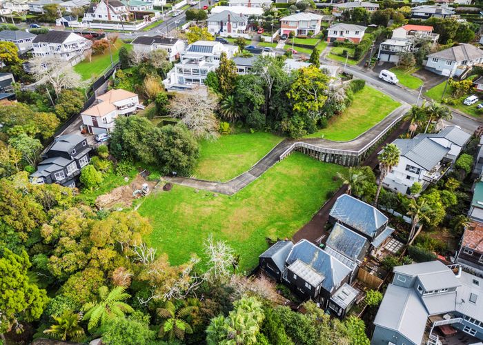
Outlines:
[{"label": "plain light-grey left gable roof section of the bottom-right house", "polygon": [[389,284],[374,324],[397,331],[421,344],[428,313],[413,288]]}]

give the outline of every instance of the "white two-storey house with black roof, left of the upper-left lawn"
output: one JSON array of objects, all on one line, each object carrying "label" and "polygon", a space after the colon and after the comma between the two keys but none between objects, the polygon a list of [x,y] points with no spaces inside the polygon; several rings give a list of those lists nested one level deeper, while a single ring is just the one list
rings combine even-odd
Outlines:
[{"label": "white two-storey house with black roof, left of the upper-left lawn", "polygon": [[[57,55],[63,61],[81,61],[83,52],[92,46],[92,42],[73,32],[51,30],[39,34],[32,41],[34,57]],[[77,59],[76,59],[77,58]]]}]

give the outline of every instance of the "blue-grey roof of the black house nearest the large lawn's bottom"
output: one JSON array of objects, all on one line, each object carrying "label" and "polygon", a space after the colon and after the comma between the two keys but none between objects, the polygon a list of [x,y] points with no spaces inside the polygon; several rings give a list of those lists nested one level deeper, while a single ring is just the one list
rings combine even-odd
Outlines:
[{"label": "blue-grey roof of the black house nearest the large lawn's bottom", "polygon": [[306,239],[301,239],[293,246],[286,264],[290,266],[297,259],[310,266],[315,273],[324,276],[322,288],[329,292],[338,288],[342,280],[351,274],[351,268]]}]

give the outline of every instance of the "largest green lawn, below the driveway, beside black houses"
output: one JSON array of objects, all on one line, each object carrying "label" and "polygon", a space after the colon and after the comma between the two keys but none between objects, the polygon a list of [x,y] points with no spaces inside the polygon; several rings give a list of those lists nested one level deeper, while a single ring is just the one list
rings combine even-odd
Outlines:
[{"label": "largest green lawn, below the driveway, beside black houses", "polygon": [[266,237],[291,237],[339,187],[336,172],[346,168],[295,152],[233,196],[173,186],[170,192],[146,197],[138,212],[150,219],[150,245],[167,253],[170,263],[186,262],[191,253],[203,257],[208,235],[233,246],[240,271],[258,264],[268,248]]}]

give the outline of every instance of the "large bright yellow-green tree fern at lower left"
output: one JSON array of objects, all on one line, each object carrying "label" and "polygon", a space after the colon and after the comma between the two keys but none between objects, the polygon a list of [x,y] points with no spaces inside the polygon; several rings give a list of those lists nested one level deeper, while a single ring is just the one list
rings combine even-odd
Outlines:
[{"label": "large bright yellow-green tree fern at lower left", "polygon": [[86,312],[83,319],[89,320],[88,330],[97,328],[97,326],[105,326],[106,323],[115,317],[124,317],[125,313],[132,313],[134,309],[126,301],[131,297],[125,293],[126,289],[122,286],[116,286],[110,292],[107,286],[99,288],[99,301],[97,303],[86,303],[82,310]]}]

